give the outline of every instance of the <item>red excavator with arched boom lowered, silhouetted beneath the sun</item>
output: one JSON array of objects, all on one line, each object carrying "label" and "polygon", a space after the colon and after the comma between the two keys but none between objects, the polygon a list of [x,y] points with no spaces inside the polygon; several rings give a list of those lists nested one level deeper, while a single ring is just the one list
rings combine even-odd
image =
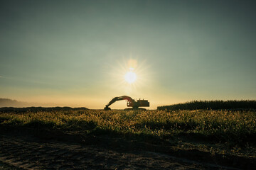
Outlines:
[{"label": "red excavator with arched boom lowered, silhouetted beneath the sun", "polygon": [[122,101],[122,100],[127,100],[127,107],[132,107],[134,110],[138,109],[139,107],[149,107],[149,101],[147,101],[147,100],[144,100],[144,99],[141,100],[139,98],[139,100],[135,101],[134,99],[132,99],[129,96],[119,96],[119,97],[114,97],[110,101],[110,103],[107,103],[104,110],[105,111],[111,110],[111,108],[109,106],[112,105],[112,103],[114,103],[116,101]]}]

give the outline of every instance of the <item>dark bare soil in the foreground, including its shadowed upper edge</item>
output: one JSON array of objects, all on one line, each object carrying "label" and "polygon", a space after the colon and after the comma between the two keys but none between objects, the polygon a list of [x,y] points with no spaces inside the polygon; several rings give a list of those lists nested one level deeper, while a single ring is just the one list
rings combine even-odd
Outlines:
[{"label": "dark bare soil in the foreground, including its shadowed upper edge", "polygon": [[[107,142],[108,140],[108,142]],[[164,151],[166,149],[166,151]],[[2,169],[251,169],[220,164],[196,150],[172,151],[161,145],[82,137],[47,130],[1,130]],[[238,162],[239,163],[239,162]],[[1,167],[1,164],[0,164]]]}]

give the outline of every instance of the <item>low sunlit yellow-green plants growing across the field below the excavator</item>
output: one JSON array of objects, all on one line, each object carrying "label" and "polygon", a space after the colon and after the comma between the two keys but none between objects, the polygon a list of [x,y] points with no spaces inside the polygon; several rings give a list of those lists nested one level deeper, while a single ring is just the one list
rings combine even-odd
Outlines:
[{"label": "low sunlit yellow-green plants growing across the field below the excavator", "polygon": [[147,142],[174,143],[184,139],[207,141],[230,148],[255,146],[255,121],[255,111],[85,110],[0,113],[1,127],[115,135]]}]

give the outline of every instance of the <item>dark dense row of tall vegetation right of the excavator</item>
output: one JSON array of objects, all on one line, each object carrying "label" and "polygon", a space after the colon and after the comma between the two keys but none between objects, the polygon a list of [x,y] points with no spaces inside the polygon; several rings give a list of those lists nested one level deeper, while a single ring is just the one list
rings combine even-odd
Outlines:
[{"label": "dark dense row of tall vegetation right of the excavator", "polygon": [[256,109],[256,101],[189,101],[170,106],[159,106],[158,110],[177,111],[177,110],[249,110]]}]

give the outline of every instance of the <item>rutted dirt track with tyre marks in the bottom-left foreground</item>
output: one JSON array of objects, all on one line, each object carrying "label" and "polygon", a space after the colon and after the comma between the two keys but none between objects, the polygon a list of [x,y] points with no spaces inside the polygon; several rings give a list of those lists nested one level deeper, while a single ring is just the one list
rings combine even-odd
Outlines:
[{"label": "rutted dirt track with tyre marks in the bottom-left foreground", "polygon": [[10,169],[223,169],[156,152],[117,152],[11,135],[0,135],[0,162]]}]

